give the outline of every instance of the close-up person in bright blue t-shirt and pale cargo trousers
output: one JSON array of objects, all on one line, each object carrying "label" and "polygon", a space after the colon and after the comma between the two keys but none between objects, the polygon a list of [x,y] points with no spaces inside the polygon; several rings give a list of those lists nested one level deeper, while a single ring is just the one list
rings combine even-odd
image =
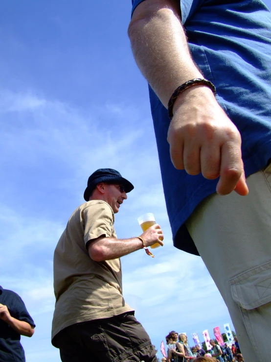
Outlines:
[{"label": "close-up person in bright blue t-shirt and pale cargo trousers", "polygon": [[267,361],[271,13],[261,0],[132,3],[174,245],[202,257],[245,360]]}]

